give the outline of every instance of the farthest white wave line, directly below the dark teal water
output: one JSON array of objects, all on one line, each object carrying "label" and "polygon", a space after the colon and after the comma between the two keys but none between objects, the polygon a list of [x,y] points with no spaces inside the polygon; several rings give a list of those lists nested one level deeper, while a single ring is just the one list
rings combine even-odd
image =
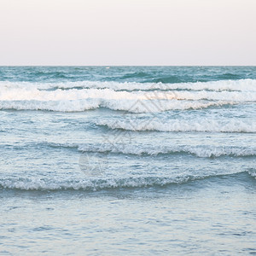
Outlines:
[{"label": "farthest white wave line, directly below the dark teal water", "polygon": [[113,81],[76,81],[62,83],[32,83],[32,82],[10,82],[0,81],[0,89],[111,89],[111,90],[237,90],[237,91],[256,91],[256,79],[240,80],[219,80],[211,82],[196,83],[136,83],[136,82],[113,82]]}]

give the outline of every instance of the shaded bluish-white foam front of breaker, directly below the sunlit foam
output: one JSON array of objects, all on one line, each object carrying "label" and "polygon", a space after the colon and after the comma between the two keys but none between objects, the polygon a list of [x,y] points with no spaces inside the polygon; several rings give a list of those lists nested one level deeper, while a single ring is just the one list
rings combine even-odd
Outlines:
[{"label": "shaded bluish-white foam front of breaker, directly below the sunlit foam", "polygon": [[96,108],[109,108],[112,110],[127,111],[131,113],[156,113],[168,110],[202,109],[234,105],[236,102],[189,102],[189,101],[138,101],[138,100],[105,100],[105,99],[79,99],[61,101],[0,101],[0,109],[15,110],[46,110],[59,112],[81,112]]}]

